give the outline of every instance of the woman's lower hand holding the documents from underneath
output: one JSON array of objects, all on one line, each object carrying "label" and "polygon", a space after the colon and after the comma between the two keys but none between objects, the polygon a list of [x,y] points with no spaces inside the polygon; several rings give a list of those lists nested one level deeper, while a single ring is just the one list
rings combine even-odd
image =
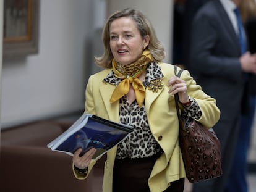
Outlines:
[{"label": "woman's lower hand holding the documents from underneath", "polygon": [[79,154],[82,152],[82,148],[77,149],[77,151],[74,152],[73,156],[73,163],[75,167],[79,169],[85,169],[86,167],[88,167],[96,151],[97,150],[95,148],[92,148],[89,151],[85,152],[85,154],[83,154],[82,156],[79,156]]}]

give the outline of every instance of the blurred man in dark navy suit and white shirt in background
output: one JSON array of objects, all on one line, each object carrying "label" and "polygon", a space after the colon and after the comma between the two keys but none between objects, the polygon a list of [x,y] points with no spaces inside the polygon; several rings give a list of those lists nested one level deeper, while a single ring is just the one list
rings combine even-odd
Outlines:
[{"label": "blurred man in dark navy suit and white shirt in background", "polygon": [[213,129],[221,142],[223,167],[221,177],[196,183],[195,192],[224,191],[233,162],[242,107],[246,106],[242,101],[247,101],[242,99],[246,95],[247,73],[256,74],[256,55],[242,53],[239,44],[239,26],[233,12],[239,1],[209,1],[198,10],[192,23],[188,68],[220,107],[221,117]]}]

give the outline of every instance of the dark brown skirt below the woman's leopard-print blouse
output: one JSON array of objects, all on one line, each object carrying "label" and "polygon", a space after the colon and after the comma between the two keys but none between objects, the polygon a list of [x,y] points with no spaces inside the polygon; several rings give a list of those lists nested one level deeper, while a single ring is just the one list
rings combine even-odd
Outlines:
[{"label": "dark brown skirt below the woman's leopard-print blouse", "polygon": [[[148,178],[158,156],[142,159],[116,159],[113,172],[113,192],[150,192]],[[171,183],[164,192],[182,192],[184,178]]]}]

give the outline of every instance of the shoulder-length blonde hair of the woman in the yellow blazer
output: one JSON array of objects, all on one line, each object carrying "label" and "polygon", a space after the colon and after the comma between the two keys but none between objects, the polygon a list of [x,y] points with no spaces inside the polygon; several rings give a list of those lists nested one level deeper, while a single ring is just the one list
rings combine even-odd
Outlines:
[{"label": "shoulder-length blonde hair of the woman in the yellow blazer", "polygon": [[111,52],[109,45],[109,27],[114,20],[119,19],[121,17],[129,17],[132,20],[134,20],[135,23],[137,24],[137,28],[140,31],[140,35],[142,36],[142,38],[144,38],[146,35],[150,36],[150,41],[147,46],[147,49],[150,51],[155,61],[162,61],[165,57],[164,47],[156,37],[155,29],[153,28],[153,25],[151,25],[150,20],[148,20],[148,18],[145,17],[145,15],[143,15],[142,12],[140,12],[139,10],[127,8],[119,10],[113,15],[111,15],[105,23],[102,33],[104,53],[100,57],[95,56],[96,64],[104,68],[112,67],[111,61],[113,59],[113,54]]}]

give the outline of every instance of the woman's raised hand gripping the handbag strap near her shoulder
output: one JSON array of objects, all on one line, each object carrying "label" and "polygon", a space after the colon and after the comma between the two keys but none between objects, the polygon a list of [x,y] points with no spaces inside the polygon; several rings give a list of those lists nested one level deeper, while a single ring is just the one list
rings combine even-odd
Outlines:
[{"label": "woman's raised hand gripping the handbag strap near her shoulder", "polygon": [[179,101],[181,103],[189,102],[189,95],[187,94],[187,85],[184,80],[177,76],[173,76],[168,80],[167,86],[171,86],[168,93],[179,94]]}]

